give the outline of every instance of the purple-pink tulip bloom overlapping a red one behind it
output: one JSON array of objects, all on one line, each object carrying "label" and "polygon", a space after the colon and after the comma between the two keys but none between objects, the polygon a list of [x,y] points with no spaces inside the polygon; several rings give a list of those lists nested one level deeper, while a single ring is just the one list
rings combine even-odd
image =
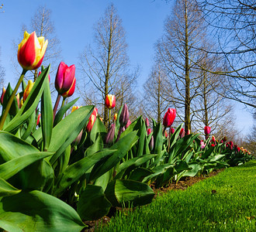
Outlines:
[{"label": "purple-pink tulip bloom overlapping a red one behind it", "polygon": [[70,67],[64,62],[59,64],[55,78],[55,88],[59,94],[64,94],[71,88],[74,81],[74,73],[74,64]]}]

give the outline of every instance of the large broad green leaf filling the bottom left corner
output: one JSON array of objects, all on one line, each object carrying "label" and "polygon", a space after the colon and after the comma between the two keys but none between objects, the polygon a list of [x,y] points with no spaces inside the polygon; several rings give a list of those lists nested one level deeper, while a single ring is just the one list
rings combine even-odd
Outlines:
[{"label": "large broad green leaf filling the bottom left corner", "polygon": [[0,227],[11,231],[73,232],[85,227],[71,206],[36,190],[2,197],[0,218]]}]

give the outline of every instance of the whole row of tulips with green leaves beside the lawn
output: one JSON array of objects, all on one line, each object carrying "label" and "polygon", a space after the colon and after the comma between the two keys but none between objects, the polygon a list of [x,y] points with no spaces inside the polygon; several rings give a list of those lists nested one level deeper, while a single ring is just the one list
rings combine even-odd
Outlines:
[{"label": "whole row of tulips with green leaves beside the lawn", "polygon": [[[50,66],[41,68],[33,86],[27,85],[31,88],[22,80],[27,70],[40,67],[46,46],[34,32],[25,32],[18,51],[23,68],[18,87],[12,90],[9,85],[1,97],[3,230],[80,231],[85,227],[83,220],[98,219],[111,207],[150,203],[154,198],[150,183],[165,186],[183,176],[251,159],[241,149],[231,149],[230,143],[215,141],[212,146],[213,139],[201,141],[199,135],[185,134],[182,125],[171,128],[175,109],[164,115],[164,128],[154,119],[149,128],[147,118],[131,122],[124,104],[112,125],[109,117],[108,130],[94,106],[74,106],[78,99],[62,101],[58,109],[61,96],[63,100],[70,97],[75,87],[75,68],[64,63],[57,70],[58,97],[53,107]],[[20,83],[22,91],[17,94]],[[17,95],[22,96],[22,105]],[[115,104],[115,96],[106,96],[109,111]]]}]

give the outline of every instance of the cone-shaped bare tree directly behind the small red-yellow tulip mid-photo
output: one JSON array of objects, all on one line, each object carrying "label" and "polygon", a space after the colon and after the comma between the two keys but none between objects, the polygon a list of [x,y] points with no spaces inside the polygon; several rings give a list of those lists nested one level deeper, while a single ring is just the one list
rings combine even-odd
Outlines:
[{"label": "cone-shaped bare tree directly behind the small red-yellow tulip mid-photo", "polygon": [[131,72],[126,49],[122,20],[111,4],[95,25],[94,46],[88,46],[80,56],[81,71],[90,80],[85,89],[90,96],[85,93],[84,99],[102,106],[99,113],[102,113],[105,123],[108,120],[108,109],[104,104],[106,95],[116,94],[118,102],[126,101],[133,94],[130,91],[137,71]]}]

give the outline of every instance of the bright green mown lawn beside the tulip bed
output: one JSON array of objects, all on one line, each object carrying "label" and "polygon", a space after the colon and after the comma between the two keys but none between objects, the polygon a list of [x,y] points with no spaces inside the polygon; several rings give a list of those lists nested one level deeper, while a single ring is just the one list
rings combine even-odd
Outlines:
[{"label": "bright green mown lawn beside the tulip bed", "polygon": [[256,160],[119,213],[98,231],[256,231]]}]

